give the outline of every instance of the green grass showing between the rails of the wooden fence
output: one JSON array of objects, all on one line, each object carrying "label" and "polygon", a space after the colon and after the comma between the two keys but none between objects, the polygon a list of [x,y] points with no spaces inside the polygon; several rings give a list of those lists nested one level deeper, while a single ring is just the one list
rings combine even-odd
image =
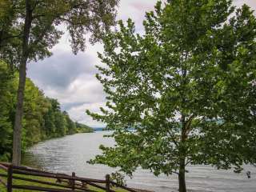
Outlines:
[{"label": "green grass showing between the rails of the wooden fence", "polygon": [[[0,174],[6,174],[6,171],[1,170],[0,169]],[[27,176],[27,175],[21,175],[21,174],[14,174],[15,176],[18,177],[22,177],[22,178],[33,178],[39,181],[43,181],[43,182],[56,182],[56,179],[54,178],[43,178],[43,177],[37,177],[37,176]],[[1,178],[4,182],[6,182],[6,178]],[[41,187],[49,187],[49,188],[58,188],[58,189],[63,189],[61,187],[58,186],[49,186],[49,185],[44,185],[44,184],[40,184],[40,183],[34,183],[34,182],[26,182],[26,181],[22,181],[22,180],[17,180],[14,179],[13,180],[14,185],[29,185],[29,186],[41,186]],[[103,192],[105,190],[100,190],[97,189],[94,186],[89,186],[89,190],[94,190],[95,192]],[[117,192],[126,192],[127,190],[122,190],[122,189],[118,189],[118,188],[114,188],[113,190],[117,191]],[[6,187],[2,185],[2,183],[0,183],[0,191],[1,192],[6,192]],[[27,191],[31,191],[31,190],[13,190],[14,192],[27,192]]]}]

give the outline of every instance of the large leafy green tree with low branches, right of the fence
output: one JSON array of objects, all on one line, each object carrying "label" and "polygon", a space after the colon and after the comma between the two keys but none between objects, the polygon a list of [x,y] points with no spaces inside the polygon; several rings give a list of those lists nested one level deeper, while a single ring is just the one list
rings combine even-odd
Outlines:
[{"label": "large leafy green tree with low branches, right of the fence", "polygon": [[178,174],[186,192],[188,164],[239,171],[256,162],[256,20],[248,6],[231,5],[158,2],[145,34],[129,19],[106,35],[96,77],[108,101],[101,114],[86,112],[114,130],[116,145],[100,146],[90,163]]}]

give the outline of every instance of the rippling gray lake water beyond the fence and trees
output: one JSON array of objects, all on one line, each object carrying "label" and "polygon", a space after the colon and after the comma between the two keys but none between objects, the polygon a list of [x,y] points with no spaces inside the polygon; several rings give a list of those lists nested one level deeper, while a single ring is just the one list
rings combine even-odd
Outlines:
[{"label": "rippling gray lake water beyond the fence and trees", "polygon": [[[25,155],[25,162],[30,166],[40,166],[43,170],[71,174],[86,178],[103,179],[114,169],[101,165],[90,165],[86,161],[99,154],[100,144],[112,146],[111,138],[103,138],[106,132],[98,131],[90,134],[74,134],[64,138],[51,139],[38,143]],[[256,168],[245,166],[241,174],[232,170],[216,170],[210,166],[189,166],[186,174],[186,185],[190,191],[197,192],[256,192]],[[251,178],[246,178],[250,170]],[[133,179],[127,178],[127,185],[134,188],[161,192],[177,191],[176,175],[155,177],[149,170],[138,169]]]}]

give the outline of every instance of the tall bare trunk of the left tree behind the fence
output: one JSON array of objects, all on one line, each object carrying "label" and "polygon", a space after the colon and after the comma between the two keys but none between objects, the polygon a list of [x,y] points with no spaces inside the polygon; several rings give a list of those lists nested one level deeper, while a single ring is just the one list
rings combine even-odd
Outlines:
[{"label": "tall bare trunk of the left tree behind the fence", "polygon": [[19,166],[22,159],[22,116],[23,116],[23,100],[26,84],[26,62],[29,57],[29,38],[32,22],[32,10],[30,0],[26,0],[26,18],[22,39],[22,58],[19,66],[19,82],[17,94],[17,107],[14,122],[14,141],[13,141],[13,164]]}]

